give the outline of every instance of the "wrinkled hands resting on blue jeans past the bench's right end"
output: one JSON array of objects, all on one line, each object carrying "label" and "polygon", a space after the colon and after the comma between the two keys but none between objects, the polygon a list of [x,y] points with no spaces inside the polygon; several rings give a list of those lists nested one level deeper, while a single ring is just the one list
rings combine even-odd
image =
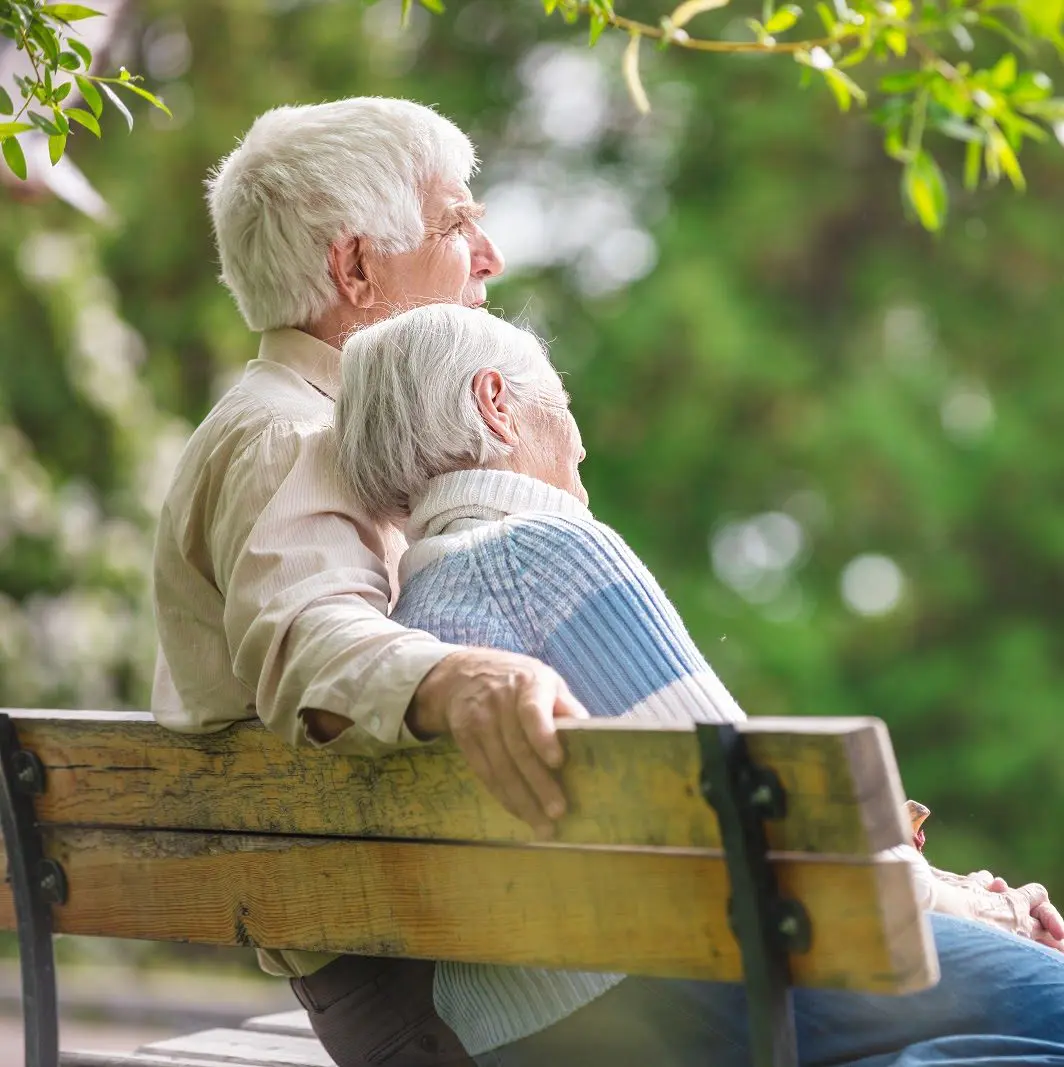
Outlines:
[{"label": "wrinkled hands resting on blue jeans past the bench's right end", "polygon": [[[912,827],[912,846],[922,853],[925,843],[922,827],[931,809],[907,800],[905,812]],[[1050,903],[1045,886],[1029,882],[1011,889],[1004,878],[989,871],[973,871],[968,875],[950,874],[937,867],[932,871],[937,881],[936,911],[987,923],[1064,952],[1064,919]]]}]

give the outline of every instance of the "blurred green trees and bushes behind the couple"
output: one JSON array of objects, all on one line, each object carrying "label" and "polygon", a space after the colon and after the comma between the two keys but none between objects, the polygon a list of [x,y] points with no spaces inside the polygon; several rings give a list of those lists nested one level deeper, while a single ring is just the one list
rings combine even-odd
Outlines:
[{"label": "blurred green trees and bushes behind the couple", "polygon": [[[933,862],[1064,897],[1059,147],[1029,148],[1026,196],[953,189],[932,239],[879,134],[793,64],[648,52],[639,118],[620,45],[536,6],[415,7],[406,36],[398,0],[136,6],[117,59],[174,121],[68,145],[116,224],[0,189],[0,704],[147,703],[154,511],[255,353],[209,165],[266,108],[409,96],[479,145],[518,260],[492,303],[553,338],[593,510],[741,703],[880,716]],[[904,578],[886,614],[841,593],[868,554]]]}]

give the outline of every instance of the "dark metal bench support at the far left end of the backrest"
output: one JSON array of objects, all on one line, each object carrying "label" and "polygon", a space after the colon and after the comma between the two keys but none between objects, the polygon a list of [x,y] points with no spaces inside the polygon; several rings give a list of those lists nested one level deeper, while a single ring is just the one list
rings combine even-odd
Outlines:
[{"label": "dark metal bench support at the far left end of the backrest", "polygon": [[59,1067],[51,906],[66,902],[66,877],[59,863],[44,857],[33,811],[33,797],[44,789],[44,766],[19,748],[11,716],[0,714],[0,824],[22,966],[26,1067]]}]

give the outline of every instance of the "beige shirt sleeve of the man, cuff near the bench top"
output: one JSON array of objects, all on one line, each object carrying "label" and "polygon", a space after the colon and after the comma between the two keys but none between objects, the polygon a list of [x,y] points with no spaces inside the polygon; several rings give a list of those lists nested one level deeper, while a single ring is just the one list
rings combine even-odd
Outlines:
[{"label": "beige shirt sleeve of the man, cuff near the bench top", "polygon": [[233,671],[263,721],[315,744],[302,719],[350,719],[330,749],[374,754],[418,744],[404,717],[420,681],[455,646],[387,616],[378,530],[339,478],[331,429],[271,428],[229,465],[209,530]]}]

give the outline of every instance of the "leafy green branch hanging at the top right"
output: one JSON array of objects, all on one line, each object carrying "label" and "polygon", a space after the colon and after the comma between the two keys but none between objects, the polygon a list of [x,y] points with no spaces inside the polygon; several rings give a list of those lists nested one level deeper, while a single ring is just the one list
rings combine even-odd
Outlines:
[{"label": "leafy green branch hanging at the top right", "polygon": [[[542,0],[547,15],[586,20],[593,45],[606,31],[629,35],[622,68],[640,111],[650,99],[639,76],[645,41],[662,48],[781,55],[801,81],[821,81],[839,107],[874,103],[887,154],[903,168],[902,192],[923,226],[939,229],[949,204],[935,158],[944,140],[964,145],[964,184],[1002,176],[1025,188],[1019,154],[1028,140],[1064,143],[1064,97],[1039,60],[1064,54],[1064,0],[819,0],[801,7],[764,0],[753,17],[741,2],[685,0],[656,25],[618,13],[614,0]],[[717,12],[719,36],[696,36],[698,16]],[[699,25],[710,23],[699,20]],[[996,42],[990,65],[974,57]],[[1005,50],[1007,49],[1007,50]]]}]

